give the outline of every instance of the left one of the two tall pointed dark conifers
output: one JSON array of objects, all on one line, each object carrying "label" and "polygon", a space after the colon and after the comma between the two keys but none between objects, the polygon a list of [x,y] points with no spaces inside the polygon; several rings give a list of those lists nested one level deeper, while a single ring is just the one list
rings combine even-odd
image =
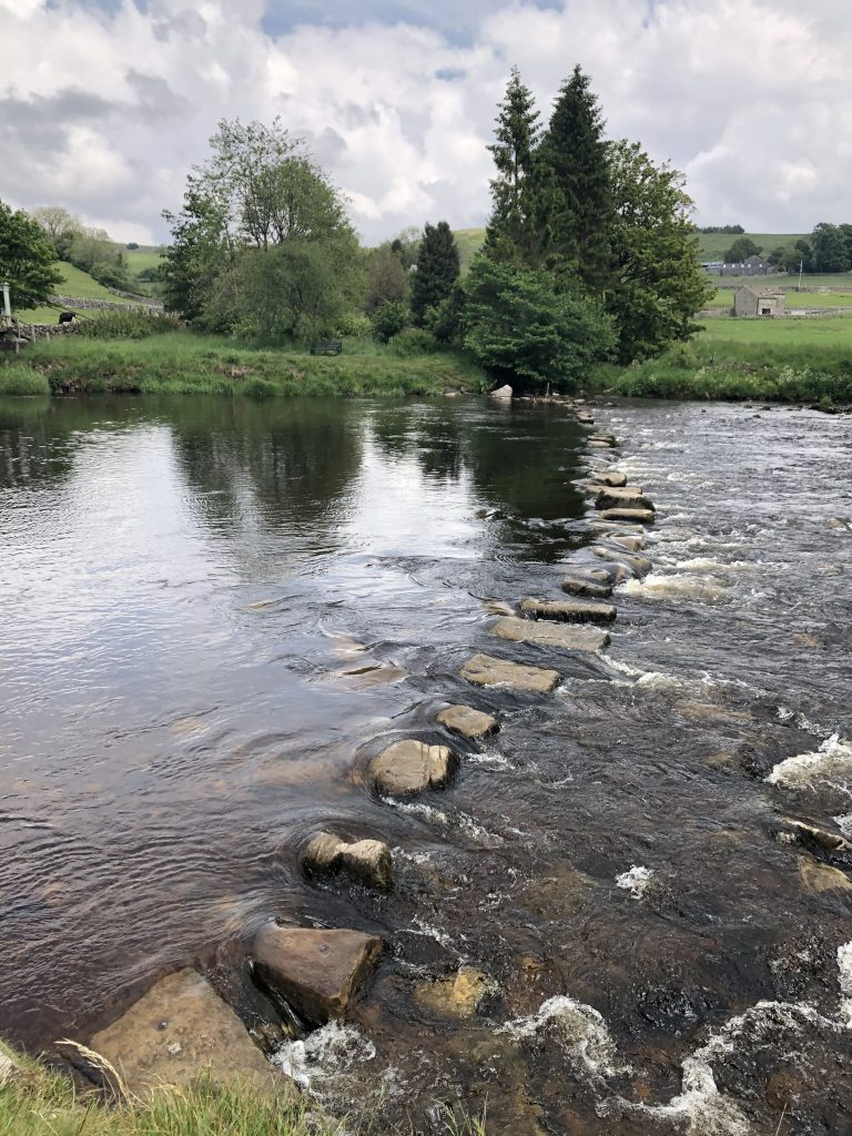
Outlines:
[{"label": "left one of the two tall pointed dark conifers", "polygon": [[495,142],[488,147],[498,176],[491,182],[492,212],[485,252],[492,260],[535,267],[541,256],[536,226],[536,150],[538,111],[520,72],[512,67],[496,117]]}]

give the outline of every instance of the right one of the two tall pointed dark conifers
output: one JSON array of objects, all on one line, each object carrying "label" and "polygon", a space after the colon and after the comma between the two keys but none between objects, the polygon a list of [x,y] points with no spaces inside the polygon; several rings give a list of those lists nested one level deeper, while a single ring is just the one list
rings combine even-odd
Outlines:
[{"label": "right one of the two tall pointed dark conifers", "polygon": [[560,89],[542,139],[538,226],[548,264],[601,294],[612,277],[612,186],[603,117],[579,66]]}]

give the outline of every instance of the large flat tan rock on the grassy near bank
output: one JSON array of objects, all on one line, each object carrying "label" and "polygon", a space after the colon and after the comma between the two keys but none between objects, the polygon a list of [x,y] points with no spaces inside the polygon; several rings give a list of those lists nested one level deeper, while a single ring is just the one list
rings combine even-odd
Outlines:
[{"label": "large flat tan rock on the grassy near bank", "polygon": [[287,1086],[231,1006],[189,968],[158,982],[89,1044],[116,1067],[135,1096],[204,1077],[216,1084],[239,1078],[262,1093]]}]

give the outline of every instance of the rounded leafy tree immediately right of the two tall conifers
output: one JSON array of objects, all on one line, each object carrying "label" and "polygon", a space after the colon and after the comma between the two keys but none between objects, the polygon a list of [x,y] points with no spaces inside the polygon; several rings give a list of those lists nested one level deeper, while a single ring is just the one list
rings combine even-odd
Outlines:
[{"label": "rounded leafy tree immediately right of the two tall conifers", "polygon": [[698,262],[699,240],[684,177],[655,166],[638,143],[610,145],[617,276],[607,308],[618,325],[618,359],[659,354],[698,328],[693,317],[713,293]]}]

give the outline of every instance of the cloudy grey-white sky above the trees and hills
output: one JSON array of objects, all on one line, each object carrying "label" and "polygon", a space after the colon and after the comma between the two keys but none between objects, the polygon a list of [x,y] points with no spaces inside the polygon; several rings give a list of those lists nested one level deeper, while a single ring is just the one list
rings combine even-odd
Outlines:
[{"label": "cloudy grey-white sky above the trees and hills", "polygon": [[218,119],[281,115],[366,241],[482,225],[512,64],[575,62],[613,137],[683,169],[702,224],[852,219],[849,0],[0,0],[0,198],[167,236]]}]

